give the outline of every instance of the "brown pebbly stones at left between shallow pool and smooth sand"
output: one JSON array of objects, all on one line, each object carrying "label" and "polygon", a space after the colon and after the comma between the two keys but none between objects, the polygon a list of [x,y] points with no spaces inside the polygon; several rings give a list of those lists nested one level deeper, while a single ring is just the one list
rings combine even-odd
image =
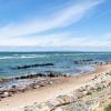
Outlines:
[{"label": "brown pebbly stones at left between shallow pool and smooth sand", "polygon": [[52,83],[50,78],[38,78],[32,80],[28,79],[23,80],[23,82],[22,81],[19,82],[20,83],[16,85],[12,84],[12,85],[0,87],[0,100],[2,100],[3,98],[12,97],[16,93],[24,92],[31,89],[38,89],[40,87],[46,87]]}]

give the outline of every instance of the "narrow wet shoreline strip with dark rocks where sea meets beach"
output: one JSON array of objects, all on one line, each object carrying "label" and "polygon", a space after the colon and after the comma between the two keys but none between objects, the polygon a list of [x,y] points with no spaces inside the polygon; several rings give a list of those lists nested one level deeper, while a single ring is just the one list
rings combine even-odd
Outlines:
[{"label": "narrow wet shoreline strip with dark rocks where sea meets beach", "polygon": [[[93,67],[93,71],[95,71],[95,65]],[[85,73],[90,73],[92,71],[81,71],[80,73],[74,73],[74,74],[69,74],[69,73],[61,73],[61,72],[54,72],[54,71],[49,71],[48,73],[41,73],[41,72],[34,72],[34,73],[29,73],[29,74],[23,74],[23,75],[16,75],[16,77],[9,77],[9,78],[0,78],[0,87],[8,85],[10,82],[18,82],[18,81],[29,81],[29,80],[34,80],[36,78],[60,78],[60,77],[78,77],[78,75],[83,75]],[[2,84],[2,85],[1,85]],[[19,82],[17,83],[19,85]]]}]

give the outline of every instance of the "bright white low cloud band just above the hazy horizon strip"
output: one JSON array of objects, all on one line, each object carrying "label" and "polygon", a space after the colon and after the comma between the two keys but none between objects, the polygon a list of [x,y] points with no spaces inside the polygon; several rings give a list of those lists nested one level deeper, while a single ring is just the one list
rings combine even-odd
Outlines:
[{"label": "bright white low cloud band just above the hazy horizon strip", "polygon": [[[101,36],[100,36],[101,37]],[[105,37],[78,37],[70,33],[52,33],[47,36],[30,36],[17,38],[2,38],[0,47],[42,47],[42,48],[107,48],[110,47],[111,39],[107,40]]]}]

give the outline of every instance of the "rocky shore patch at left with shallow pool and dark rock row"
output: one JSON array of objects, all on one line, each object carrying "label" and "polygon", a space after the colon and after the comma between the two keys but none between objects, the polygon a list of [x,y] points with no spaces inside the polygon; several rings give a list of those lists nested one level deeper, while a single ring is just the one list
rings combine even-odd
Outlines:
[{"label": "rocky shore patch at left with shallow pool and dark rock row", "polygon": [[12,97],[16,93],[26,92],[32,89],[50,85],[53,83],[52,78],[68,77],[59,72],[49,71],[44,73],[32,73],[21,77],[3,79],[0,82],[0,101],[4,98]]}]

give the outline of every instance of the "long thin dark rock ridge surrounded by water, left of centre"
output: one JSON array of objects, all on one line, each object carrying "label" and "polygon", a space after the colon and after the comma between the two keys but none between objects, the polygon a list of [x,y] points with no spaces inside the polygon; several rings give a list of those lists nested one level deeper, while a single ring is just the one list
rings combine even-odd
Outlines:
[{"label": "long thin dark rock ridge surrounded by water, left of centre", "polygon": [[36,67],[48,67],[48,65],[54,65],[53,63],[41,63],[41,64],[29,64],[29,65],[19,65],[14,69],[28,69],[28,68],[36,68]]}]

